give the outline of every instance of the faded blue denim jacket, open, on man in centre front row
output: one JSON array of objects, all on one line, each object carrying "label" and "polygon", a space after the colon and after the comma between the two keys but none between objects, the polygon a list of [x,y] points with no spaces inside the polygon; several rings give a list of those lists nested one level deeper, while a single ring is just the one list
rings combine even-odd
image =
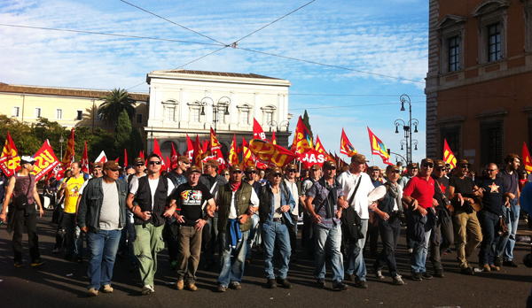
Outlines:
[{"label": "faded blue denim jacket, open, on man in centre front row", "polygon": [[[290,217],[290,213],[293,211],[293,207],[295,206],[295,201],[293,200],[292,193],[290,192],[290,189],[288,189],[285,184],[283,184],[282,181],[281,183],[279,183],[279,188],[281,193],[281,205],[290,205],[290,211],[283,213],[284,219],[290,224],[293,224],[292,218]],[[288,197],[286,198],[286,196]],[[261,219],[261,222],[263,224],[270,225],[273,220],[273,214],[275,213],[275,206],[273,204],[275,201],[273,197],[273,191],[271,191],[270,182],[262,186],[260,201],[261,202],[259,203],[259,217]]]}]

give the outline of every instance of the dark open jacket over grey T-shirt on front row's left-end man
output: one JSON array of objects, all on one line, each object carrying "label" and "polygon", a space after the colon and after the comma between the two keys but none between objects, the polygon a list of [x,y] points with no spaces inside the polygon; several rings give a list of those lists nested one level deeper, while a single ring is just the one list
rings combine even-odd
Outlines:
[{"label": "dark open jacket over grey T-shirt on front row's left-end man", "polygon": [[[99,217],[104,202],[103,178],[91,179],[83,189],[82,200],[78,208],[79,227],[88,227],[90,232],[99,232]],[[126,226],[126,195],[128,183],[116,180],[118,204],[120,205],[120,221],[118,227]]]}]

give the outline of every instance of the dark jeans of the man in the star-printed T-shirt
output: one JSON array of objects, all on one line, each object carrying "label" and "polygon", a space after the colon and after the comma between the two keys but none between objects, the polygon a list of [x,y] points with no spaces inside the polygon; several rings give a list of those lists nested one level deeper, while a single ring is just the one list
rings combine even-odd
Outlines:
[{"label": "dark jeans of the man in the star-printed T-shirt", "polygon": [[493,265],[495,258],[495,247],[499,235],[499,216],[489,211],[477,212],[477,217],[481,223],[482,242],[481,251],[479,251],[479,264]]}]

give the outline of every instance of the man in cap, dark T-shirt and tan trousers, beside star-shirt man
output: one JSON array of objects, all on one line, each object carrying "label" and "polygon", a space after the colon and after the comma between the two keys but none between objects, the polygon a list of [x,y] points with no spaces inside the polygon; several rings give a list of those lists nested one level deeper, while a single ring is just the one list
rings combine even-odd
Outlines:
[{"label": "man in cap, dark T-shirt and tan trousers, beside star-shirt man", "polygon": [[482,193],[473,180],[465,176],[470,166],[467,160],[458,159],[455,173],[449,179],[449,193],[454,209],[453,225],[460,273],[473,275],[473,268],[469,266],[467,258],[482,241],[481,225],[473,210],[473,197],[481,198]]}]

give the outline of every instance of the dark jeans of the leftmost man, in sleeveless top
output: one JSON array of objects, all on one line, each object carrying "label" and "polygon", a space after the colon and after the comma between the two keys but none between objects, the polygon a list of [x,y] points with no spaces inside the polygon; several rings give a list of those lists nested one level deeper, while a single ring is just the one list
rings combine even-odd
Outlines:
[{"label": "dark jeans of the leftmost man, in sleeveless top", "polygon": [[[35,208],[35,205],[32,205]],[[31,258],[32,263],[40,258],[39,255],[39,236],[37,236],[37,224],[36,224],[36,212],[30,211],[30,214],[24,216],[24,210],[16,210],[13,207],[10,207],[10,210],[13,211],[11,215],[16,215],[13,222],[13,252],[14,252],[14,261],[22,261],[22,235],[24,233],[24,226],[26,226],[27,231],[27,243],[29,244],[29,257]],[[16,211],[16,213],[14,212]]]}]

